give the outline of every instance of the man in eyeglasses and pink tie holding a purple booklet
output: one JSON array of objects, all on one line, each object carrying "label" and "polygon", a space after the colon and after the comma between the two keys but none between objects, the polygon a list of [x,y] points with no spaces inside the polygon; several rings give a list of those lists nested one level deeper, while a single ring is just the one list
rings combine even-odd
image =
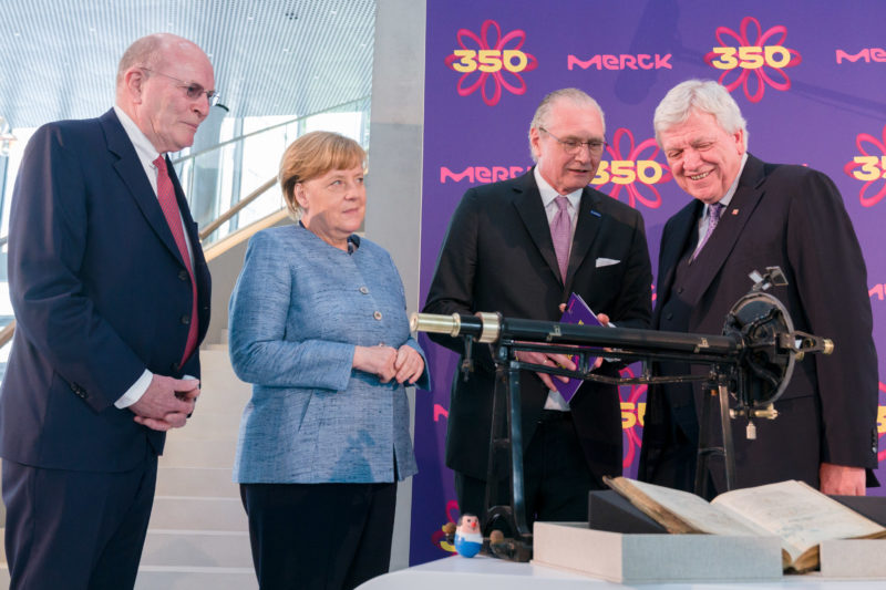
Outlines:
[{"label": "man in eyeglasses and pink tie holding a purple booklet", "polygon": [[[588,185],[605,149],[604,114],[586,93],[550,93],[529,125],[536,166],[471,188],[453,214],[424,311],[498,311],[506,318],[560,319],[571,292],[602,322],[646,328],[651,266],[643,220]],[[460,339],[431,338],[460,354]],[[462,513],[485,517],[495,368],[473,346],[473,372],[453,376],[446,465]],[[534,364],[575,365],[564,355],[521,353]],[[616,376],[609,362],[597,369]],[[615,386],[586,382],[570,402],[547,374],[521,375],[527,520],[587,520],[589,489],[621,473],[621,413]]]}]

